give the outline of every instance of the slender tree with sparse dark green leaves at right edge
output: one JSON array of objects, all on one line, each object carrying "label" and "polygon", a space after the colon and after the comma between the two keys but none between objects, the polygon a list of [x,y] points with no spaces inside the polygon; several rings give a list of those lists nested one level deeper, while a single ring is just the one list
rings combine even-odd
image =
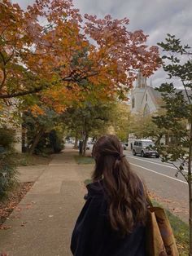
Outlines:
[{"label": "slender tree with sparse dark green leaves at right edge", "polygon": [[[159,152],[163,161],[172,162],[177,168],[176,176],[181,174],[189,186],[189,255],[192,255],[192,62],[189,58],[189,46],[181,45],[181,40],[174,35],[168,34],[165,40],[166,42],[159,43],[166,52],[162,57],[164,70],[169,78],[178,78],[184,90],[176,89],[175,82],[166,82],[157,88],[164,100],[165,113],[153,119],[159,129],[170,131],[176,138],[173,145],[159,145]],[[179,166],[175,165],[175,161],[180,162]],[[187,174],[183,171],[184,166],[188,169]]]}]

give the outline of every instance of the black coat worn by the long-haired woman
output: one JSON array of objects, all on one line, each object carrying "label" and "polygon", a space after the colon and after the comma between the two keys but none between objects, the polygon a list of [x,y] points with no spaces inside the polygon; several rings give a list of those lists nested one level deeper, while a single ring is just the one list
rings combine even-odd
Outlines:
[{"label": "black coat worn by the long-haired woman", "polygon": [[75,256],[146,256],[145,227],[140,224],[124,238],[112,230],[107,217],[107,199],[102,183],[87,186],[87,201],[72,232]]}]

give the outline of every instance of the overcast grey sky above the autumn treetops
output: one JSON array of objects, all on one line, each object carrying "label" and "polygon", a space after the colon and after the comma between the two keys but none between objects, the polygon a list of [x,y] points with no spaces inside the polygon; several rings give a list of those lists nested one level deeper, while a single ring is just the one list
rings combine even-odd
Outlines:
[{"label": "overcast grey sky above the autumn treetops", "polygon": [[[26,8],[34,0],[12,0]],[[184,44],[192,46],[192,0],[73,0],[81,14],[110,14],[116,19],[129,18],[128,30],[142,29],[149,35],[148,46],[164,41],[167,33],[176,35]],[[167,80],[163,70],[157,71],[148,84],[159,86]]]}]

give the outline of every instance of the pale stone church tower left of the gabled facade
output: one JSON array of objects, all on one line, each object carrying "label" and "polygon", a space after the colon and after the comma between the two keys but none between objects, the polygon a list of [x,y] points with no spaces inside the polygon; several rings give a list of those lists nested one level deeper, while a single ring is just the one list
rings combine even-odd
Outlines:
[{"label": "pale stone church tower left of the gabled facade", "polygon": [[144,77],[141,71],[137,74],[136,86],[131,92],[131,113],[140,113],[142,97],[146,90],[146,77]]}]

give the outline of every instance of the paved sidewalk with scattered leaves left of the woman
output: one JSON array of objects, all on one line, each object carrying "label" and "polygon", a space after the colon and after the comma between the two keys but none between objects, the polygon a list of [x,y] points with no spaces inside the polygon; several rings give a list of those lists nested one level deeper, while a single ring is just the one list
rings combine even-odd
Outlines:
[{"label": "paved sidewalk with scattered leaves left of the woman", "polygon": [[89,174],[89,170],[83,173],[85,166],[76,164],[75,153],[66,149],[46,168],[24,167],[21,179],[36,182],[5,223],[11,228],[0,231],[0,252],[9,256],[72,255],[72,228],[84,204],[82,182]]}]

